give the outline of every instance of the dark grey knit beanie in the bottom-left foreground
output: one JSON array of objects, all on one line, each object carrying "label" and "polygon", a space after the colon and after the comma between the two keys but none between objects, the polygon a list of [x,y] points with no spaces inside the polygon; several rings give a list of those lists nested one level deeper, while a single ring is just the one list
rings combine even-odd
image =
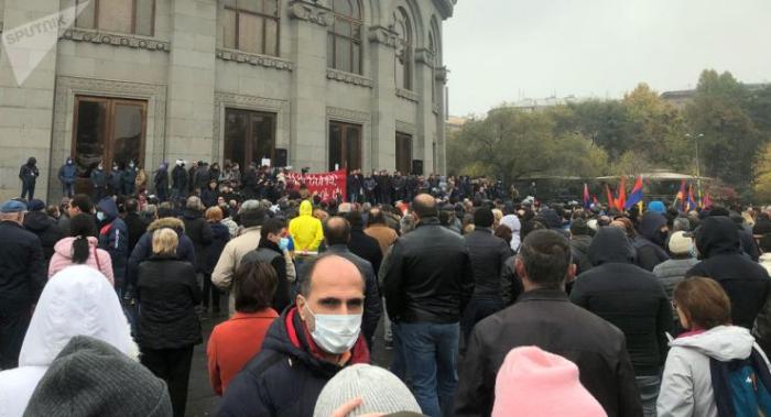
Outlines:
[{"label": "dark grey knit beanie in the bottom-left foreground", "polygon": [[37,384],[24,417],[172,416],[166,384],[98,339],[76,336]]}]

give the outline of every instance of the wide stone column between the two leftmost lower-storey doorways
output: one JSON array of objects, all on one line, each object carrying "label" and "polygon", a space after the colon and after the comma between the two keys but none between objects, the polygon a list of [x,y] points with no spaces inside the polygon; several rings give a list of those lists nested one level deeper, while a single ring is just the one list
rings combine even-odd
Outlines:
[{"label": "wide stone column between the two leftmost lower-storey doorways", "polygon": [[172,0],[170,19],[171,54],[164,156],[172,164],[176,158],[210,162],[215,118],[217,1]]}]

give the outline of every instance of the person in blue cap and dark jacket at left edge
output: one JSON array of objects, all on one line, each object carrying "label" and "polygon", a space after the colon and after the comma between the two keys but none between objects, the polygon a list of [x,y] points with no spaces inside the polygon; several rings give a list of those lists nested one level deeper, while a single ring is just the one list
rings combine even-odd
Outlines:
[{"label": "person in blue cap and dark jacket at left edge", "polygon": [[33,306],[46,282],[40,239],[22,227],[26,205],[0,206],[0,370],[18,366]]}]

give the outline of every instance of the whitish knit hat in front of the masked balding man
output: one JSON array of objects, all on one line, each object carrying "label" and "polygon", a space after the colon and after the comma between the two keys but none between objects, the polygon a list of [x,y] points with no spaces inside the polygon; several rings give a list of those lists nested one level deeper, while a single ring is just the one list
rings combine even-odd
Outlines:
[{"label": "whitish knit hat in front of the masked balding man", "polygon": [[410,388],[389,371],[366,364],[348,366],[324,386],[316,400],[314,417],[329,417],[343,404],[361,398],[363,403],[348,417],[371,413],[421,413]]}]

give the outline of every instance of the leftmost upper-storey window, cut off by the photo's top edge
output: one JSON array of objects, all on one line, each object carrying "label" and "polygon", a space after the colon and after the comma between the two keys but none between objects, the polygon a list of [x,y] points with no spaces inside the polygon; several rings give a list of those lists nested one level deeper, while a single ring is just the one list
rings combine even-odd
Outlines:
[{"label": "leftmost upper-storey window, cut off by the photo's top edge", "polygon": [[77,0],[87,4],[75,25],[108,32],[152,36],[155,29],[155,0]]}]

